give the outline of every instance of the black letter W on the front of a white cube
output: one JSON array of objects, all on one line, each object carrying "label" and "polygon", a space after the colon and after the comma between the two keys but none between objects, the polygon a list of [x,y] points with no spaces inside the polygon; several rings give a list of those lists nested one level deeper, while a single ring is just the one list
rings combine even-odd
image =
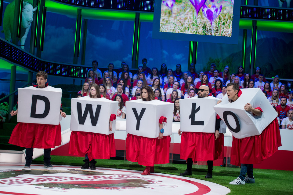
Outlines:
[{"label": "black letter W on the front of a white cube", "polygon": [[92,126],[96,126],[97,122],[98,122],[98,119],[99,119],[101,106],[102,105],[97,105],[96,113],[95,113],[95,116],[94,116],[94,113],[92,112],[92,105],[91,104],[86,104],[85,105],[85,112],[82,115],[81,103],[77,102],[78,124],[81,124],[81,125],[85,124],[85,119],[86,119],[86,116],[88,116],[88,112],[89,112],[89,116],[91,118]]}]

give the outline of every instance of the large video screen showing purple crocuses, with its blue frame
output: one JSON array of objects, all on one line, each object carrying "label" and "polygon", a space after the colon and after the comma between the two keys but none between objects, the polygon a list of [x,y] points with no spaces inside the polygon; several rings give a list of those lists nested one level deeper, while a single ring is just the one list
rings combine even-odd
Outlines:
[{"label": "large video screen showing purple crocuses, with its blue frame", "polygon": [[155,0],[153,38],[238,44],[240,1]]}]

